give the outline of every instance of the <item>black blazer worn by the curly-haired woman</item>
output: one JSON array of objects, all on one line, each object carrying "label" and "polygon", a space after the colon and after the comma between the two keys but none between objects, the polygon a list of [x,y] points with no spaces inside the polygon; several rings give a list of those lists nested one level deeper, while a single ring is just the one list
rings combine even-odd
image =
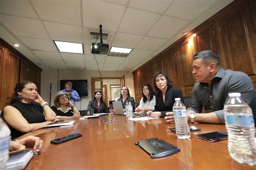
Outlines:
[{"label": "black blazer worn by the curly-haired woman", "polygon": [[166,112],[172,112],[172,106],[175,103],[175,98],[180,98],[182,103],[184,103],[182,92],[176,87],[167,87],[165,94],[165,103],[163,101],[163,93],[160,90],[157,91],[154,112],[161,112],[161,116],[166,117]]}]

